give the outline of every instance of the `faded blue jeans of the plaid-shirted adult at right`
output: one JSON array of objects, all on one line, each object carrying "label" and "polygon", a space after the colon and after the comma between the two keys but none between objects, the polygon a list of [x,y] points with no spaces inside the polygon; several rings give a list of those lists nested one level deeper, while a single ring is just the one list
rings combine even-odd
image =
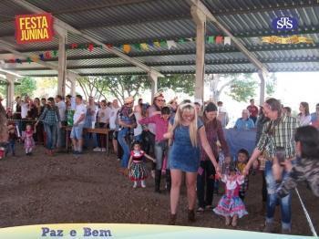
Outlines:
[{"label": "faded blue jeans of the plaid-shirted adult at right", "polygon": [[[266,222],[273,223],[274,211],[277,205],[277,202],[280,203],[281,213],[282,213],[282,228],[291,230],[292,223],[292,195],[289,193],[287,196],[280,198],[278,197],[276,190],[279,186],[279,183],[275,182],[273,178],[273,162],[266,161],[265,165],[265,178],[267,182],[267,215]],[[283,171],[283,180],[288,177],[288,173]]]}]

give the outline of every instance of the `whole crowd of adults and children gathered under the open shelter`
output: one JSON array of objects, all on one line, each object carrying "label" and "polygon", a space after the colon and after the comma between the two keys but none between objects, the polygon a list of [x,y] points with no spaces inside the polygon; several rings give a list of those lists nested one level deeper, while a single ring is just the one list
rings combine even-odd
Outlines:
[{"label": "whole crowd of adults and children gathered under the open shelter", "polygon": [[[260,109],[250,100],[234,128],[257,131],[255,150],[252,155],[246,149],[231,155],[223,130],[229,116],[221,101],[204,105],[190,100],[179,103],[176,98],[167,101],[158,93],[150,105],[142,99],[134,105],[134,99],[129,97],[121,107],[117,99],[96,103],[90,97],[84,103],[80,95],[66,99],[57,96],[22,100],[18,97],[15,102],[15,110],[5,111],[8,121],[5,122],[5,154],[15,156],[15,141],[22,140],[26,155],[32,155],[35,145],[44,144],[46,154],[52,156],[65,148],[67,126],[72,127],[69,138],[75,155],[82,154],[83,149],[88,150],[91,145],[93,151],[107,151],[109,140],[120,161],[120,172],[133,182],[133,188],[139,184],[142,188],[147,186],[145,180],[150,166],[154,191],[170,192],[170,224],[177,220],[183,173],[190,222],[195,221],[196,213],[211,211],[224,216],[226,225],[236,226],[238,219],[249,213],[244,201],[252,168],[262,171],[264,232],[273,233],[278,202],[282,232],[291,232],[291,190],[296,181],[308,181],[314,194],[319,194],[319,172],[309,172],[309,167],[318,166],[319,104],[310,114],[308,103],[301,102],[300,113],[293,117],[291,109],[278,99],[267,99]],[[85,128],[106,129],[109,137],[83,134]],[[151,161],[151,165],[147,165],[145,159]],[[301,176],[300,171],[304,171],[305,176]],[[163,175],[165,189],[160,187]],[[225,183],[225,191],[214,207],[213,192],[220,181]],[[278,182],[283,182],[280,187]]]}]

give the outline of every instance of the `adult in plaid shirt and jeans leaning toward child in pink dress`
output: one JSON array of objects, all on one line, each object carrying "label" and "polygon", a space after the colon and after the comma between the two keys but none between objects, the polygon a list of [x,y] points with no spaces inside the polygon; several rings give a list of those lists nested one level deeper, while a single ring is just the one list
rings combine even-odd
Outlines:
[{"label": "adult in plaid shirt and jeans leaning toward child in pink dress", "polygon": [[[278,99],[267,99],[263,104],[264,114],[270,121],[266,122],[262,129],[262,136],[252,157],[247,163],[244,174],[247,175],[259,155],[266,155],[265,178],[267,182],[267,214],[264,232],[273,233],[273,216],[277,201],[281,204],[282,213],[282,233],[289,234],[291,232],[292,210],[291,210],[291,194],[280,198],[276,192],[278,183],[273,177],[273,160],[276,159],[276,149],[284,149],[284,160],[291,161],[295,157],[294,133],[300,126],[299,121],[293,117],[289,117],[282,113],[282,105]],[[283,171],[282,178],[288,177],[288,173]]]}]

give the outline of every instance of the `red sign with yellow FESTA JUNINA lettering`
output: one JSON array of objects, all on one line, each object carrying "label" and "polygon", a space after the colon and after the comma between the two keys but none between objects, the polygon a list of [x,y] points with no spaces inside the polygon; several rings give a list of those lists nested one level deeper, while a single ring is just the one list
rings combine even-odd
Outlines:
[{"label": "red sign with yellow FESTA JUNINA lettering", "polygon": [[52,40],[52,16],[50,14],[15,16],[17,43]]}]

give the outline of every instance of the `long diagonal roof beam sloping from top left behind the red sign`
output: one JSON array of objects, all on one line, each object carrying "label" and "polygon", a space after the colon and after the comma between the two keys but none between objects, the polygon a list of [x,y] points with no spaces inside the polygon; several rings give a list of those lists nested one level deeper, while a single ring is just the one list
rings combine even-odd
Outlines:
[{"label": "long diagonal roof beam sloping from top left behind the red sign", "polygon": [[[38,8],[36,5],[29,4],[28,2],[26,2],[26,0],[12,0],[12,1],[14,1],[16,5],[23,6],[27,10],[29,10],[29,11],[31,11],[33,13],[44,13],[45,12],[44,10]],[[101,41],[95,39],[92,36],[88,36],[87,34],[84,34],[83,32],[77,30],[75,27],[70,26],[67,23],[59,20],[57,17],[54,17],[54,22],[55,22],[55,24],[57,24],[57,26],[60,26],[60,27],[62,27],[64,29],[66,29],[69,32],[72,32],[74,34],[82,36],[82,37],[86,38],[87,40],[89,40],[92,43],[104,46],[104,44]],[[137,59],[133,59],[131,57],[128,57],[127,55],[125,55],[124,53],[118,51],[117,49],[115,49],[113,47],[112,48],[105,47],[105,49],[108,52],[110,52],[112,54],[115,54],[115,55],[117,55],[120,58],[123,58],[124,60],[128,61],[129,63],[133,64],[134,66],[145,70],[146,72],[149,72],[149,73],[151,72],[152,74],[156,74],[158,77],[163,77],[163,75],[161,75],[160,72],[156,71],[153,68],[149,68],[148,66],[146,66],[143,63],[141,63]]]}]

